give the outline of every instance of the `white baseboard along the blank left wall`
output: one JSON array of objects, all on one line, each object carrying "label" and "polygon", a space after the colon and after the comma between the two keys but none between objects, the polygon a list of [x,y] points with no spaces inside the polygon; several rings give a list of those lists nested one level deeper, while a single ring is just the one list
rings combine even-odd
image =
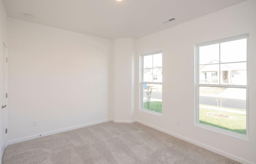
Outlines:
[{"label": "white baseboard along the blank left wall", "polygon": [[50,132],[46,132],[46,133],[42,133],[42,134],[37,134],[37,135],[28,136],[28,137],[23,137],[23,138],[20,138],[20,139],[15,139],[15,140],[8,141],[8,145],[9,144],[14,144],[14,143],[20,143],[20,142],[23,142],[23,141],[28,141],[28,140],[31,140],[31,139],[36,139],[36,138],[39,138],[39,137],[53,135],[53,134],[56,134],[56,133],[61,133],[61,132],[65,132],[65,131],[79,129],[79,128],[82,128],[82,127],[88,127],[90,125],[96,125],[96,124],[99,124],[99,123],[105,123],[105,122],[108,122],[108,121],[113,121],[113,119],[105,119],[105,120],[96,121],[96,122],[93,122],[93,123],[86,123],[86,124],[83,124],[83,125],[78,125],[78,126],[68,127],[68,128],[59,129],[59,130],[55,130],[55,131],[50,131]]}]

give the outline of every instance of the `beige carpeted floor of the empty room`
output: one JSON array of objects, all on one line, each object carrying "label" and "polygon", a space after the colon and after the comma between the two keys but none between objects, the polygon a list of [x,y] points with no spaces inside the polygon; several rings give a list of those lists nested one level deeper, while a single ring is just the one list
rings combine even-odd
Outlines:
[{"label": "beige carpeted floor of the empty room", "polygon": [[112,121],[8,145],[2,164],[239,164],[140,123]]}]

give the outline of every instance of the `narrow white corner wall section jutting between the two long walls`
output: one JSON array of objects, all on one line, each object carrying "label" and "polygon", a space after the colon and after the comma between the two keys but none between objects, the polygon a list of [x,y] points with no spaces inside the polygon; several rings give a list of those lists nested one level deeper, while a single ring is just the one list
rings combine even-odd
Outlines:
[{"label": "narrow white corner wall section jutting between the two long walls", "polygon": [[114,39],[114,115],[116,122],[130,122],[134,116],[134,39]]}]

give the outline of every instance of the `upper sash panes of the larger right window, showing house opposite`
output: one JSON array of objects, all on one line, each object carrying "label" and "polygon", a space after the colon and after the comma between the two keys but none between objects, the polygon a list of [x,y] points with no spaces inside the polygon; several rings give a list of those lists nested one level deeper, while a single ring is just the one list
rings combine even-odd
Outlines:
[{"label": "upper sash panes of the larger right window, showing house opposite", "polygon": [[[246,47],[247,38],[198,46],[200,84],[246,85]],[[219,74],[218,80],[210,78],[213,71]],[[239,83],[233,83],[234,74],[240,78]]]}]

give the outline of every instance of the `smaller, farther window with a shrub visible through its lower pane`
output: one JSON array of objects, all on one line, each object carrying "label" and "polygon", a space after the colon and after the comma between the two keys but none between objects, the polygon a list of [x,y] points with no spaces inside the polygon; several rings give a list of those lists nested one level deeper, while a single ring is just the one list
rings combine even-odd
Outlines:
[{"label": "smaller, farther window with a shrub visible through its lower pane", "polygon": [[162,113],[162,53],[142,55],[142,110]]}]

